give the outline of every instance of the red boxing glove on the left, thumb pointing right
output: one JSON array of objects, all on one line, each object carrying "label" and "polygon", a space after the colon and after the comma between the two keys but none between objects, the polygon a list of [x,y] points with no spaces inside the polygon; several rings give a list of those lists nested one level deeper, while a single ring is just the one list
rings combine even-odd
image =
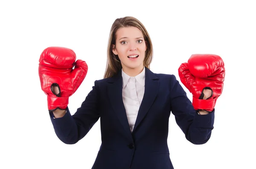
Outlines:
[{"label": "red boxing glove on the left, thumb pointing right", "polygon": [[[38,73],[41,89],[47,95],[49,111],[66,109],[69,97],[84,80],[88,66],[83,60],[75,61],[75,52],[64,47],[48,47],[42,52]],[[58,94],[54,92],[53,86],[58,87]]]}]

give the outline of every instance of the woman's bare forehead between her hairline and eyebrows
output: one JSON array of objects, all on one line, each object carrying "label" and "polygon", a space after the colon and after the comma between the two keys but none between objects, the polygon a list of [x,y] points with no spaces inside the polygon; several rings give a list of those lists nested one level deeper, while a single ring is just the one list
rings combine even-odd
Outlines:
[{"label": "woman's bare forehead between her hairline and eyebrows", "polygon": [[132,26],[119,28],[116,31],[116,38],[117,40],[119,40],[122,37],[127,37],[127,38],[143,37],[143,33],[140,31],[140,29]]}]

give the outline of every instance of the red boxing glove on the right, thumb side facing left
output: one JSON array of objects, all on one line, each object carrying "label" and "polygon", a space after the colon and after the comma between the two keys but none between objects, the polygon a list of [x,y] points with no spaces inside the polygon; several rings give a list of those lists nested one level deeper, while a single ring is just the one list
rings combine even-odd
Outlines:
[{"label": "red boxing glove on the right, thumb side facing left", "polygon": [[[221,57],[215,54],[192,54],[188,63],[180,65],[178,72],[181,82],[193,95],[194,109],[212,112],[222,93],[225,77]],[[203,100],[204,89],[212,91],[212,95],[206,100]]]}]

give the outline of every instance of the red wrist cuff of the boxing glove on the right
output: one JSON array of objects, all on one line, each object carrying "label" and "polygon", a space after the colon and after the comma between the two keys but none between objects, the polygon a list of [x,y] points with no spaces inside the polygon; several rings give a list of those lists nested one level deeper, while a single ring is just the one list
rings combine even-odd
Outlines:
[{"label": "red wrist cuff of the boxing glove on the right", "polygon": [[195,110],[201,109],[201,110],[206,110],[208,112],[212,112],[212,110],[215,107],[216,100],[217,98],[203,100],[203,99],[196,99],[195,97],[193,97],[192,105]]}]

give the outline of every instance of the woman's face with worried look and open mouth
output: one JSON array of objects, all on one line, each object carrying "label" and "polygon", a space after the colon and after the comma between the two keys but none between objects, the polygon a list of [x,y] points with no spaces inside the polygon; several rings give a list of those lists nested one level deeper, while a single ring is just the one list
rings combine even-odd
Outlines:
[{"label": "woman's face with worried look and open mouth", "polygon": [[143,69],[146,43],[140,29],[136,27],[118,29],[116,46],[113,47],[115,48],[112,51],[118,55],[124,71]]}]

